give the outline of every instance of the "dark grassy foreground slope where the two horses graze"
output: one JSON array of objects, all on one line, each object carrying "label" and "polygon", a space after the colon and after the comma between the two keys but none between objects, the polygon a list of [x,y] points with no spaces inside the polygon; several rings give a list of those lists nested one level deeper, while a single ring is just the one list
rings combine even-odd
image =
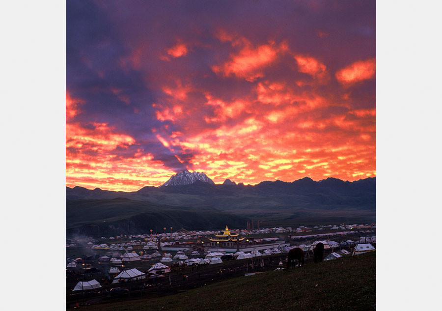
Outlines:
[{"label": "dark grassy foreground slope where the two horses graze", "polygon": [[95,311],[375,310],[376,254],[309,263],[179,294],[82,307]]}]

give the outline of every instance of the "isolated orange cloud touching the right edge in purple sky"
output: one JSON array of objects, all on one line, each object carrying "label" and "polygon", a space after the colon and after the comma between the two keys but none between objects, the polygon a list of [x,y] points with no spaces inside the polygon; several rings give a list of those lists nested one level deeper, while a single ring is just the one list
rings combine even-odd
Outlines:
[{"label": "isolated orange cloud touching the right edge in purple sky", "polygon": [[376,73],[376,58],[357,61],[336,72],[336,79],[343,85],[368,80]]}]

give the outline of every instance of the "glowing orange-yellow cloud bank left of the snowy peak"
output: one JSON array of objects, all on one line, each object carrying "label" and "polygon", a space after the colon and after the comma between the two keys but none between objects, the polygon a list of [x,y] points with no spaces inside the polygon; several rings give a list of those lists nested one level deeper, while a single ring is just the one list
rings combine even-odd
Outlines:
[{"label": "glowing orange-yellow cloud bank left of the snowy peak", "polygon": [[134,157],[118,157],[117,148],[128,148],[135,139],[106,123],[91,125],[66,124],[66,186],[134,191],[146,185],[146,178],[159,186],[174,174],[141,149]]}]

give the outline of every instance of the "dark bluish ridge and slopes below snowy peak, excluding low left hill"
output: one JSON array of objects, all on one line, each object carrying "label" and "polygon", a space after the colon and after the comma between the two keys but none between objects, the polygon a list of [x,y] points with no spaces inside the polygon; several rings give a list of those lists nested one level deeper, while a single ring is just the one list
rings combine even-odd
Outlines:
[{"label": "dark bluish ridge and slopes below snowy peak, excluding low left hill", "polygon": [[[112,200],[115,198],[118,199]],[[376,177],[353,182],[337,178],[314,181],[304,177],[293,182],[263,181],[254,186],[215,185],[196,180],[188,185],[143,187],[134,192],[66,187],[66,199],[106,199],[115,206],[121,206],[124,199],[148,201],[158,211],[173,208],[172,214],[183,209],[211,209],[275,225],[376,221]],[[121,207],[123,211],[124,208]]]}]

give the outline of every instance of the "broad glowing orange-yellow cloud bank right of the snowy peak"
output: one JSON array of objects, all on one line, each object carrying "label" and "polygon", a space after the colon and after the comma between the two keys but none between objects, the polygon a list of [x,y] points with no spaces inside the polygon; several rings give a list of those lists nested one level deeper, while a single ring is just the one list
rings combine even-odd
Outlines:
[{"label": "broad glowing orange-yellow cloud bank right of the snowy peak", "polygon": [[[328,104],[318,95],[305,99],[310,103],[304,101],[301,112]],[[349,111],[321,120],[295,113],[300,121],[291,126],[287,122],[291,107],[264,116],[257,109],[255,116],[244,121],[177,137],[174,144],[192,150],[193,168],[205,171],[216,183],[227,176],[236,182],[255,184],[266,179],[291,181],[306,175],[315,180],[328,176],[355,180],[360,174],[376,175],[376,146],[366,142],[376,136],[376,128],[366,124],[367,120],[375,122],[372,112],[358,115]],[[346,118],[349,115],[352,117]]]}]

